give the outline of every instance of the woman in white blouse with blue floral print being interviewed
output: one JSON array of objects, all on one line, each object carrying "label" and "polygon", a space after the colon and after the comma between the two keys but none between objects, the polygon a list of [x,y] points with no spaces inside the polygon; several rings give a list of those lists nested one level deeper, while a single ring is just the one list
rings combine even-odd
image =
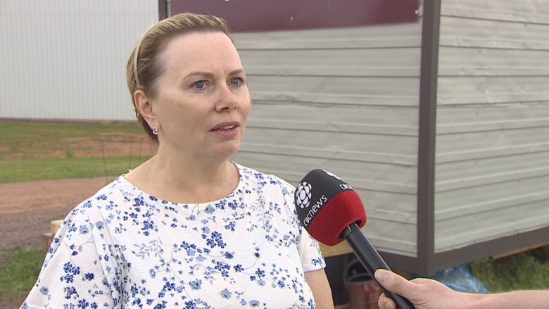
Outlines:
[{"label": "woman in white blouse with blue floral print being interviewed", "polygon": [[153,25],[127,82],[158,152],[72,210],[22,308],[332,308],[294,187],[228,160],[250,94],[225,21]]}]

